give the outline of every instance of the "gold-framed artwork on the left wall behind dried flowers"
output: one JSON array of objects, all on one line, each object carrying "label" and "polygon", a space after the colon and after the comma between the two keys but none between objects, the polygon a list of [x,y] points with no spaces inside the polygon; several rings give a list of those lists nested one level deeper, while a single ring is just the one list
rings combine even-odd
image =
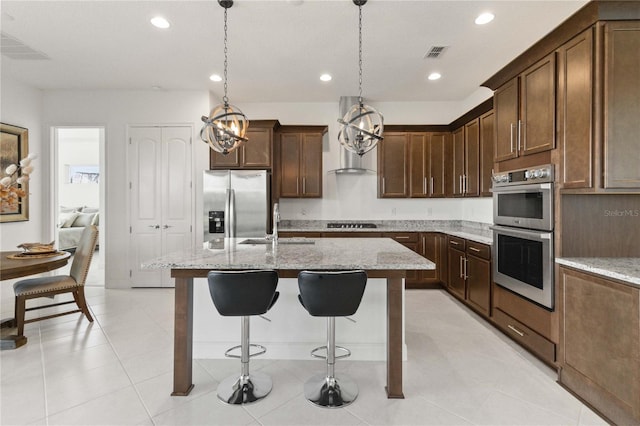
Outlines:
[{"label": "gold-framed artwork on the left wall behind dried flowers", "polygon": [[11,177],[10,186],[0,185],[0,222],[20,222],[29,220],[29,183],[16,182],[22,175],[20,169],[7,174],[7,168],[18,165],[20,160],[29,155],[29,130],[24,127],[0,123],[0,177],[6,180]]}]

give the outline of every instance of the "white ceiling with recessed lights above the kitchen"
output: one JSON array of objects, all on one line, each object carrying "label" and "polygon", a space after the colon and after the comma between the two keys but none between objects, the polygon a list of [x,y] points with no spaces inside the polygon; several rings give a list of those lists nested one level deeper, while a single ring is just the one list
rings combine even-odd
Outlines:
[{"label": "white ceiling with recessed lights above the kitchen", "polygon": [[[363,96],[461,101],[587,1],[369,0]],[[1,28],[47,60],[2,56],[2,70],[41,89],[210,90],[223,70],[216,0],[1,1]],[[474,24],[484,11],[496,15]],[[149,24],[163,15],[172,24]],[[335,102],[358,92],[358,8],[351,0],[236,0],[228,11],[229,99]],[[430,46],[449,46],[436,60]],[[439,81],[427,80],[432,71]],[[333,80],[323,83],[322,73]],[[158,86],[160,89],[153,89]]]}]

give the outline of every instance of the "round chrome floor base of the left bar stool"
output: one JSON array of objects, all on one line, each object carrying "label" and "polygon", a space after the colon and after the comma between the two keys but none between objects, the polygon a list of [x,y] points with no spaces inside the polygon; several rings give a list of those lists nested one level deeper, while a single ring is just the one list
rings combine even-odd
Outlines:
[{"label": "round chrome floor base of the left bar stool", "polygon": [[269,395],[272,388],[271,377],[264,373],[230,376],[218,385],[218,399],[230,405],[251,404]]}]

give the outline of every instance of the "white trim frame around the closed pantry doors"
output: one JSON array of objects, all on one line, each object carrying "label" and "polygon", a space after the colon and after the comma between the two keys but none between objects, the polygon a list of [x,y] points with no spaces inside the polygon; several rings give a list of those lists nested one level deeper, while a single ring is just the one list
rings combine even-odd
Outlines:
[{"label": "white trim frame around the closed pantry doors", "polygon": [[[131,158],[130,158],[130,152],[129,152],[129,140],[130,140],[130,134],[131,134],[131,129],[132,128],[139,128],[139,127],[186,127],[189,128],[190,130],[190,137],[191,137],[191,148],[190,148],[190,156],[191,156],[191,245],[193,246],[195,244],[195,234],[196,234],[196,226],[195,226],[195,219],[196,219],[196,197],[195,197],[195,180],[194,180],[194,176],[195,176],[195,155],[194,155],[194,146],[193,146],[193,141],[195,140],[194,138],[194,132],[195,132],[195,128],[194,128],[194,124],[190,123],[190,122],[171,122],[171,123],[159,123],[159,122],[154,122],[154,123],[127,123],[127,127],[126,127],[126,131],[125,131],[125,155],[126,155],[126,159],[125,159],[125,167],[126,167],[126,186],[127,188],[126,191],[127,193],[129,192],[129,185],[132,182],[133,176],[131,176]],[[126,206],[125,206],[125,214],[127,215],[127,224],[128,226],[131,225],[131,197],[127,196],[127,201],[126,201]],[[131,242],[130,242],[130,233],[127,234],[127,247],[126,247],[126,252],[127,252],[127,259],[130,258],[131,256]],[[129,265],[125,265],[127,268],[129,268]],[[131,284],[131,280],[128,280],[128,284],[130,288],[134,288]],[[137,288],[137,287],[136,287]],[[140,287],[142,288],[142,287]]]}]

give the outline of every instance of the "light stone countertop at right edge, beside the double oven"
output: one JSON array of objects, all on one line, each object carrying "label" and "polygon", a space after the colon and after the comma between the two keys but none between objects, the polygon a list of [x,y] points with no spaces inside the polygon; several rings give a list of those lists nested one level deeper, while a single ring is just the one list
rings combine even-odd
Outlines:
[{"label": "light stone countertop at right edge, beside the double oven", "polygon": [[558,257],[556,263],[640,287],[638,257]]}]

